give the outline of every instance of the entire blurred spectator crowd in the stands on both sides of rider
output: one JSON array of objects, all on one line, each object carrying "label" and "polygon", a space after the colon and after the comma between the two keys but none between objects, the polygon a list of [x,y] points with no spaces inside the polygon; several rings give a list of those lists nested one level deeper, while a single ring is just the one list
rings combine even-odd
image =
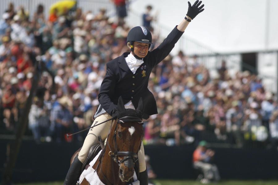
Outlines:
[{"label": "entire blurred spectator crowd in the stands on both sides of rider", "polygon": [[[91,126],[105,64],[129,51],[130,27],[124,22],[126,14],[113,19],[104,8],[98,12],[65,8],[47,18],[44,11],[39,5],[30,16],[24,7],[11,3],[2,15],[1,128],[14,133],[24,116],[36,70],[30,56],[36,52],[47,70],[42,72],[28,116],[30,133],[37,142],[83,141],[86,132],[69,138],[65,134]],[[161,38],[151,24],[149,28],[152,50]],[[181,145],[205,139],[238,146],[272,143],[277,148],[275,94],[265,91],[258,76],[248,71],[231,76],[226,62],[219,63],[218,76],[211,78],[197,56],[180,51],[154,68],[149,89],[157,100],[158,114],[145,121],[146,144]]]}]

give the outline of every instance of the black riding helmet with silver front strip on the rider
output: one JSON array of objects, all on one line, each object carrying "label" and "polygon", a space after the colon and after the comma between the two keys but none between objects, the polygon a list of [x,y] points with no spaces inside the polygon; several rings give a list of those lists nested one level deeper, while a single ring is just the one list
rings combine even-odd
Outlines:
[{"label": "black riding helmet with silver front strip on the rider", "polygon": [[128,36],[127,36],[127,42],[130,43],[131,51],[134,51],[133,48],[134,41],[140,43],[148,43],[150,49],[150,45],[152,44],[152,34],[150,30],[143,26],[133,27],[128,32]]}]

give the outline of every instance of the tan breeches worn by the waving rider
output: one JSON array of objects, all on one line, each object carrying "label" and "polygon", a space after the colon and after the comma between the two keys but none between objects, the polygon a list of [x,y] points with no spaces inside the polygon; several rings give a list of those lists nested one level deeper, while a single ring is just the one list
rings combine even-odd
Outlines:
[{"label": "tan breeches worn by the waving rider", "polygon": [[[101,114],[97,118],[95,118],[93,125],[99,124],[99,123],[106,121],[108,119],[111,119],[111,118],[112,117],[107,113]],[[111,124],[112,124],[112,120],[107,121],[103,124],[100,124],[89,130],[89,133],[87,134],[85,141],[83,143],[83,146],[78,154],[79,161],[81,161],[82,163],[85,161],[91,146],[93,146],[99,142],[99,140],[98,140],[99,136],[101,136],[101,138],[103,140],[105,140],[107,138],[107,136],[110,132]],[[145,171],[146,163],[145,163],[145,152],[144,152],[143,142],[141,143],[141,148],[138,152],[138,161],[139,161],[139,171],[140,172]]]}]

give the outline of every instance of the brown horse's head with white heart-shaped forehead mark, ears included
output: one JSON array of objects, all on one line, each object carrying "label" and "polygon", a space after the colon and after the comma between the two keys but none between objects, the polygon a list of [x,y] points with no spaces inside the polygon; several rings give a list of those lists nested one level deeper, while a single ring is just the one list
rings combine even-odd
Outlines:
[{"label": "brown horse's head with white heart-shaped forehead mark, ears included", "polygon": [[119,98],[119,115],[114,131],[116,151],[112,158],[119,165],[119,177],[123,182],[133,178],[135,161],[138,160],[137,153],[144,135],[143,109],[142,98],[136,110],[125,109],[122,98]]}]

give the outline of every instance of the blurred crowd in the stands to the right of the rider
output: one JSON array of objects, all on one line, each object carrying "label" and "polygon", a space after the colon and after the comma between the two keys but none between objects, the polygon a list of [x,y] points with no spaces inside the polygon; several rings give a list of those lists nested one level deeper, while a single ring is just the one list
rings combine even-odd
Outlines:
[{"label": "blurred crowd in the stands to the right of the rider", "polygon": [[206,139],[277,147],[277,98],[265,91],[262,79],[249,71],[230,76],[225,61],[212,79],[197,58],[182,52],[167,58],[150,82],[159,112],[146,127],[147,142],[179,145]]}]

